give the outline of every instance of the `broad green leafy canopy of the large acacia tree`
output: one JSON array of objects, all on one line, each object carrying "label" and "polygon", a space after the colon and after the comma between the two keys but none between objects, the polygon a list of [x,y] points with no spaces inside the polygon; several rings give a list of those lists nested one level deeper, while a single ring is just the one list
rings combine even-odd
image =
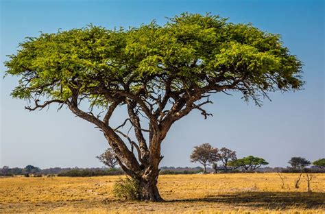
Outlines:
[{"label": "broad green leafy canopy of the large acacia tree", "polygon": [[20,78],[12,96],[19,99],[71,98],[73,89],[90,105],[108,100],[99,88],[116,91],[171,88],[241,91],[246,100],[270,91],[301,88],[302,63],[282,46],[280,36],[250,24],[234,24],[219,16],[180,14],[163,25],[155,22],[130,29],[82,29],[42,33],[26,38],[5,62],[6,75]]}]

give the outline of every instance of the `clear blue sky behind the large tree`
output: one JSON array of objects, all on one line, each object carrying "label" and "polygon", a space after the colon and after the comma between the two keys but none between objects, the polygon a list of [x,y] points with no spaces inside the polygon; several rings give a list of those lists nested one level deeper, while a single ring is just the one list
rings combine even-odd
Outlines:
[{"label": "clear blue sky behind the large tree", "polygon": [[[253,23],[282,41],[304,62],[303,91],[273,93],[262,108],[239,95],[215,95],[200,112],[176,122],[163,142],[161,166],[197,166],[189,155],[195,145],[229,147],[239,157],[265,158],[285,167],[291,156],[324,158],[324,1],[1,1],[0,69],[25,36],[89,23],[107,28],[139,26],[182,12],[219,14],[234,23]],[[68,110],[28,112],[25,102],[12,99],[16,78],[1,80],[0,167],[100,167],[95,158],[108,146],[91,123]],[[123,118],[120,110],[116,121]]]}]

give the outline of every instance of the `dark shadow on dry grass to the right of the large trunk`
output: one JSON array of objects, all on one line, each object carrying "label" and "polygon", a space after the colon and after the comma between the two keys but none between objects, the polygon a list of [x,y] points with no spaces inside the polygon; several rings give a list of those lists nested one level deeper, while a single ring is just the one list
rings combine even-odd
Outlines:
[{"label": "dark shadow on dry grass to the right of the large trunk", "polygon": [[210,195],[206,198],[171,200],[169,202],[215,202],[264,209],[322,209],[325,193],[242,192]]}]

